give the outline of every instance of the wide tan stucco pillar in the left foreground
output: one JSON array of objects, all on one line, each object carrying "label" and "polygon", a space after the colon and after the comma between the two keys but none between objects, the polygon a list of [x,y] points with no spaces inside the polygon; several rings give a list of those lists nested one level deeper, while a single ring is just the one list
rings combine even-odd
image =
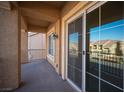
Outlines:
[{"label": "wide tan stucco pillar in the left foreground", "polygon": [[0,91],[19,86],[19,35],[18,10],[0,9]]}]

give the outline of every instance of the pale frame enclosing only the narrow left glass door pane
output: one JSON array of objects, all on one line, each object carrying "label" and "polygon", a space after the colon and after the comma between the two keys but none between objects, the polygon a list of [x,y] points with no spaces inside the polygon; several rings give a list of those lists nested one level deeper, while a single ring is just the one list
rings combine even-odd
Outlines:
[{"label": "pale frame enclosing only the narrow left glass door pane", "polygon": [[[84,24],[84,13],[81,12],[80,14],[75,15],[74,17],[70,18],[67,22],[66,22],[66,80],[69,82],[69,84],[76,89],[77,91],[81,92],[81,91],[85,91],[85,61],[84,61],[84,55],[82,52],[82,89],[80,89],[77,85],[75,85],[69,78],[68,78],[68,24],[75,21],[76,19],[82,17],[82,24]],[[83,26],[84,27],[84,26]],[[82,27],[82,28],[83,28]],[[84,28],[82,29],[82,34],[84,33]],[[83,38],[83,35],[82,35]],[[84,40],[82,40],[82,45],[84,43]],[[84,50],[82,48],[82,50]]]}]

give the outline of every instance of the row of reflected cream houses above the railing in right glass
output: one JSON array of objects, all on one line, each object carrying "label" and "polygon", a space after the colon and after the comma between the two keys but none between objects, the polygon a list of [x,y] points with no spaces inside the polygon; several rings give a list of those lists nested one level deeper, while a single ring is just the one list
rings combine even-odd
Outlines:
[{"label": "row of reflected cream houses above the railing in right glass", "polygon": [[118,52],[120,55],[124,53],[123,49],[123,41],[116,41],[116,40],[101,40],[96,42],[90,43],[90,50],[91,51],[100,51],[102,53],[112,53],[115,55],[118,55]]}]

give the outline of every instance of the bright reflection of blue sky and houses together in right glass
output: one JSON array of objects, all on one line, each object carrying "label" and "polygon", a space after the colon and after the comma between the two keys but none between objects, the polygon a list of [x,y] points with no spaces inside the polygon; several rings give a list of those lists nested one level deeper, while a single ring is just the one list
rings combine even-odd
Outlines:
[{"label": "bright reflection of blue sky and houses together in right glass", "polygon": [[92,32],[90,35],[90,52],[92,54],[90,56],[94,57],[95,55],[96,58],[102,60],[122,63],[124,54],[123,29],[123,19],[92,28],[90,30]]}]

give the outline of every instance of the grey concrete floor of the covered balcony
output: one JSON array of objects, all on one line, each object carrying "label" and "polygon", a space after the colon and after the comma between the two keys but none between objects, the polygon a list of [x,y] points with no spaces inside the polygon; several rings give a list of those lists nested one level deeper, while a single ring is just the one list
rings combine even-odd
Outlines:
[{"label": "grey concrete floor of the covered balcony", "polygon": [[74,92],[46,60],[22,64],[22,85],[15,92]]}]

